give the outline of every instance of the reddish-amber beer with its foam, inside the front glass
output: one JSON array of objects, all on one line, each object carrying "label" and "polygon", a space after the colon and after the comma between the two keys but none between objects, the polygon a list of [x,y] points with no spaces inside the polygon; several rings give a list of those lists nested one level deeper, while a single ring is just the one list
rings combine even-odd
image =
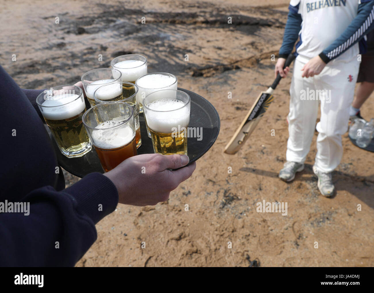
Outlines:
[{"label": "reddish-amber beer with its foam, inside the front glass", "polygon": [[[107,125],[115,126],[117,121],[106,121]],[[104,126],[97,126],[92,132],[92,140],[101,166],[105,172],[115,168],[122,161],[137,155],[137,146],[133,130],[129,126],[115,129],[105,134]]]}]

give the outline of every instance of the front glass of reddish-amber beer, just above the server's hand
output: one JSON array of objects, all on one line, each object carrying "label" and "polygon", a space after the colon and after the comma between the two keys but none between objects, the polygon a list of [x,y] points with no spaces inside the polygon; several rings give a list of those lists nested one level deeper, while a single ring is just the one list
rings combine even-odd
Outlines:
[{"label": "front glass of reddish-amber beer, just above the server's hand", "polygon": [[100,103],[86,111],[83,124],[105,172],[137,155],[134,110],[130,105]]}]

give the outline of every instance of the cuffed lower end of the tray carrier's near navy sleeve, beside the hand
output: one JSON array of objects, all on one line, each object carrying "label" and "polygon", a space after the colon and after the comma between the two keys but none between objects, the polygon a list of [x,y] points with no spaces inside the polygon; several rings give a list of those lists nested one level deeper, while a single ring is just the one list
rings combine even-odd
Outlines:
[{"label": "cuffed lower end of the tray carrier's near navy sleeve, beside the hand", "polygon": [[88,215],[95,224],[113,212],[118,203],[116,186],[101,173],[90,173],[62,192],[73,196],[80,211]]}]

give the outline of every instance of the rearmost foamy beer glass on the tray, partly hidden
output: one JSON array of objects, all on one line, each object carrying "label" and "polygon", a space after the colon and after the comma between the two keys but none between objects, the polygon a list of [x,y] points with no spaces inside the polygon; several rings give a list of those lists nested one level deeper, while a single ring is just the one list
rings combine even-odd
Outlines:
[{"label": "rearmost foamy beer glass on the tray, partly hidden", "polygon": [[[135,84],[140,76],[147,74],[147,58],[142,55],[128,54],[114,58],[110,66],[122,72],[122,81]],[[141,107],[140,112],[143,112]]]}]

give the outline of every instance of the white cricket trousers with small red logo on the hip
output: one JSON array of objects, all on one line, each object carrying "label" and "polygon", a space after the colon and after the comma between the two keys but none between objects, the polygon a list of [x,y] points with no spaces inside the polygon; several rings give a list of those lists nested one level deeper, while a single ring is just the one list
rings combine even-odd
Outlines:
[{"label": "white cricket trousers with small red logo on the hip", "polygon": [[[302,78],[304,63],[297,59],[291,81],[286,160],[304,163],[312,143],[321,102],[321,119],[317,124],[315,166],[329,173],[343,156],[341,136],[348,129],[349,107],[355,93],[360,62],[330,61],[319,75]],[[314,98],[314,99],[313,99]]]}]

